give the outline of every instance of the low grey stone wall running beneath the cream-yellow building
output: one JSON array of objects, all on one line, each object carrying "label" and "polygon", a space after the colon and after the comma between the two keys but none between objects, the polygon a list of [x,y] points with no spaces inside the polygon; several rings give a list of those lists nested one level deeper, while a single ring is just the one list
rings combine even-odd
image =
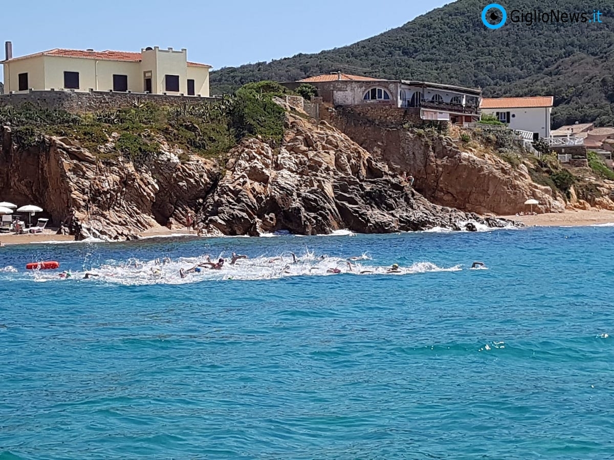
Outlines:
[{"label": "low grey stone wall running beneath the cream-yellow building", "polygon": [[63,109],[68,112],[95,112],[102,109],[130,107],[134,102],[152,102],[158,105],[209,104],[217,98],[198,96],[165,96],[163,94],[112,93],[110,91],[32,91],[31,93],[2,94],[0,107],[34,104],[45,109]]}]

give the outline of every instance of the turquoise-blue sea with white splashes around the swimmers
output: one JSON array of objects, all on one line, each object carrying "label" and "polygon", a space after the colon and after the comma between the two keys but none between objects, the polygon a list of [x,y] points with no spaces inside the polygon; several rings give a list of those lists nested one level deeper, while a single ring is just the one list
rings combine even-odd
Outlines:
[{"label": "turquoise-blue sea with white splashes around the swimmers", "polygon": [[0,459],[614,458],[614,227],[1,251]]}]

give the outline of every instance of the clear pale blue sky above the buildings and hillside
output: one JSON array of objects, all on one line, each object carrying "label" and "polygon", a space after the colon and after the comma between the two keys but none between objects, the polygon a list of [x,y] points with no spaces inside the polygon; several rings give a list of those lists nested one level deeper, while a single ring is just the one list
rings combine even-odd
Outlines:
[{"label": "clear pale blue sky above the buildings and hillside", "polygon": [[2,2],[1,59],[6,40],[13,42],[14,56],[52,48],[159,46],[187,48],[190,61],[219,69],[349,45],[449,2],[109,0],[53,7],[41,0]]}]

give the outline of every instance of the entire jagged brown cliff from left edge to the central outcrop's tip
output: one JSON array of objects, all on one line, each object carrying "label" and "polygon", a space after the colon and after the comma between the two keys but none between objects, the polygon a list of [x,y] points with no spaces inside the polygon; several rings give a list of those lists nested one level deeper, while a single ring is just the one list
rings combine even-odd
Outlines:
[{"label": "entire jagged brown cliff from left edge to the central outcrop's tip", "polygon": [[67,137],[47,136],[23,149],[10,128],[1,135],[2,199],[40,205],[77,237],[126,239],[156,226],[182,226],[188,212],[208,234],[229,235],[460,229],[469,220],[503,225],[430,203],[338,129],[290,113],[278,148],[251,138],[219,159],[186,160],[158,139],[160,153],[137,169],[121,157],[92,155]]}]

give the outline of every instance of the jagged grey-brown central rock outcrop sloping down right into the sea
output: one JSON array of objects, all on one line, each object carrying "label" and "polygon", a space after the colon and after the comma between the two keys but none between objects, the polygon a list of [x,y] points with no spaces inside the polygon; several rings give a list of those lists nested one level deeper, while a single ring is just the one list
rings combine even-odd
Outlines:
[{"label": "jagged grey-brown central rock outcrop sloping down right into the sea", "polygon": [[328,123],[292,116],[281,148],[246,139],[230,152],[227,172],[203,209],[209,232],[232,235],[387,233],[483,222],[431,204]]}]

